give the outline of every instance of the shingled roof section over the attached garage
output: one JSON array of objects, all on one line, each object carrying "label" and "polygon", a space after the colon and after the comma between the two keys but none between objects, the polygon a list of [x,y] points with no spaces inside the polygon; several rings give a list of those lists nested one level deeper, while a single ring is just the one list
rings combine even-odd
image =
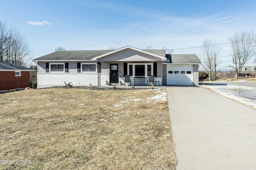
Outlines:
[{"label": "shingled roof section over the attached garage", "polygon": [[166,54],[166,58],[169,59],[166,63],[202,64],[195,54]]}]

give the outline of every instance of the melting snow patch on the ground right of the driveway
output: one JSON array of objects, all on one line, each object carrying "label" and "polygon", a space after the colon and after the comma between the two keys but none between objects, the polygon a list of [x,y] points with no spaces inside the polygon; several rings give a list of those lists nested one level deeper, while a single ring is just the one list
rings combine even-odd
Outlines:
[{"label": "melting snow patch on the ground right of the driveway", "polygon": [[243,104],[256,108],[256,88],[238,85],[202,85],[210,88],[227,98],[236,100]]}]

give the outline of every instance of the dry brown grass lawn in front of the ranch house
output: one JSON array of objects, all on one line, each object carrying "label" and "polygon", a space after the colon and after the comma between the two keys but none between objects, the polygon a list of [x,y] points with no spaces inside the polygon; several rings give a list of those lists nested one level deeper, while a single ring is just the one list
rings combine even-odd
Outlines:
[{"label": "dry brown grass lawn in front of the ranch house", "polygon": [[148,100],[157,94],[88,89],[0,94],[0,160],[35,160],[0,169],[175,169],[172,137],[163,137],[171,134],[164,127],[170,127],[167,102]]}]

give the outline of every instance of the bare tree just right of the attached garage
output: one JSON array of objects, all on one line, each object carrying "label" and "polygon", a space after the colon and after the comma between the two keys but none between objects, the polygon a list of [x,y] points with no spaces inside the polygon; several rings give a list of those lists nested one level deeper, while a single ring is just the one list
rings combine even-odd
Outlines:
[{"label": "bare tree just right of the attached garage", "polygon": [[209,81],[212,80],[212,74],[214,69],[220,63],[218,55],[221,51],[221,47],[216,46],[216,41],[212,39],[204,39],[200,51],[200,59],[202,61],[202,66],[204,71],[208,74]]}]

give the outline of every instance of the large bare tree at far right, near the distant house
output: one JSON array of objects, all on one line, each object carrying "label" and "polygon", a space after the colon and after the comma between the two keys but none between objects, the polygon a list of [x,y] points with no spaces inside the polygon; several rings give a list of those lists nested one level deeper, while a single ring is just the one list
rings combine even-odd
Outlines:
[{"label": "large bare tree at far right, near the distant house", "polygon": [[232,48],[233,64],[230,67],[236,70],[236,78],[240,74],[240,71],[244,64],[252,58],[253,51],[255,50],[256,35],[253,31],[234,33],[233,36],[228,37]]}]

